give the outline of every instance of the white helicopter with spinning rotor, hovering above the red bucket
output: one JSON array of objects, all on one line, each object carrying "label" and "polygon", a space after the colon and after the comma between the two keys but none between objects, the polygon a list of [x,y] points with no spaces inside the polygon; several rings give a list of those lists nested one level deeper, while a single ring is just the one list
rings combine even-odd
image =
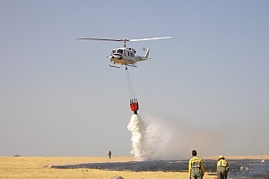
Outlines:
[{"label": "white helicopter with spinning rotor, hovering above the red bucket", "polygon": [[171,38],[171,37],[163,37],[163,38],[140,38],[140,39],[129,39],[129,38],[122,38],[122,39],[109,39],[109,38],[76,38],[76,39],[91,39],[91,40],[103,40],[103,41],[123,41],[124,47],[119,47],[112,49],[111,55],[109,55],[110,62],[113,64],[108,64],[110,67],[120,68],[121,65],[126,66],[133,66],[137,67],[135,64],[138,62],[142,62],[149,58],[149,48],[143,48],[145,52],[144,56],[135,55],[136,51],[132,47],[126,47],[126,42],[134,42],[134,41],[143,41],[143,40],[152,40],[152,39],[164,39],[164,38]]}]

